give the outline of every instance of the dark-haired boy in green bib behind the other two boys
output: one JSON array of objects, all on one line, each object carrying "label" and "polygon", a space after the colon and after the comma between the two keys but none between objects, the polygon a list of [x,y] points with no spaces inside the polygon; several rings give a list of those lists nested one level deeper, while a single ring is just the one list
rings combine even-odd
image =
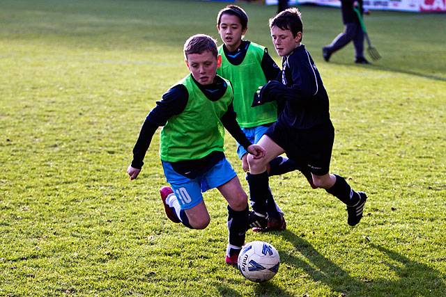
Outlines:
[{"label": "dark-haired boy in green bib behind the other two boys", "polygon": [[[277,120],[277,102],[268,102],[252,107],[254,95],[259,86],[276,79],[280,69],[268,54],[268,49],[249,40],[243,40],[247,31],[248,16],[243,8],[229,5],[222,8],[217,15],[217,30],[223,45],[219,47],[222,56],[222,67],[217,74],[229,79],[234,90],[234,110],[237,121],[243,132],[252,143],[257,143],[268,127]],[[248,171],[247,151],[238,145],[237,154],[242,160],[242,167]],[[277,156],[270,162],[269,175],[280,175],[298,167],[286,156]],[[252,201],[256,211],[256,205]],[[284,230],[286,222],[283,212],[269,195],[267,202],[268,226],[254,227],[254,231]],[[259,214],[256,214],[259,215]]]}]

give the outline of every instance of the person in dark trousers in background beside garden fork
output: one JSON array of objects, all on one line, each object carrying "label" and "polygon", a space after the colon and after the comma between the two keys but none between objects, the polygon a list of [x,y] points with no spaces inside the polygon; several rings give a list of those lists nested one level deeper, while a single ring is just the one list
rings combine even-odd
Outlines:
[{"label": "person in dark trousers in background beside garden fork", "polygon": [[344,22],[344,32],[337,35],[330,45],[326,45],[322,48],[323,59],[328,62],[334,52],[348,45],[348,42],[353,40],[355,46],[355,63],[358,64],[370,64],[366,58],[364,58],[364,33],[361,29],[360,20],[353,8],[356,6],[360,13],[364,13],[362,8],[362,0],[340,0],[342,21]]}]

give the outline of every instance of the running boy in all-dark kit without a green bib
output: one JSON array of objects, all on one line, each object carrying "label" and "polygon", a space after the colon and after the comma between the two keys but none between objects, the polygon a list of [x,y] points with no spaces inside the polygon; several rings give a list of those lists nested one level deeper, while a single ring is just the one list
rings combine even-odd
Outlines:
[{"label": "running boy in all-dark kit without a green bib", "polygon": [[277,54],[283,57],[282,78],[263,86],[253,105],[277,100],[283,102],[284,109],[259,141],[266,156],[248,156],[251,199],[256,204],[265,203],[269,188],[266,166],[285,152],[290,159],[305,162],[316,187],[324,188],[347,205],[347,223],[354,226],[362,218],[367,195],[353,191],[344,177],[329,173],[334,128],[328,95],[312,57],[301,44],[299,10],[289,8],[270,19],[270,30]]}]

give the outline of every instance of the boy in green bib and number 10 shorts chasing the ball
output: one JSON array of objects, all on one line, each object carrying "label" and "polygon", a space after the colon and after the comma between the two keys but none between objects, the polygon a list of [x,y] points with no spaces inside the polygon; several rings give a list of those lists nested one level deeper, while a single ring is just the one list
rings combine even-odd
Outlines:
[{"label": "boy in green bib and number 10 shorts chasing the ball", "polygon": [[171,187],[164,186],[160,194],[167,217],[192,229],[206,228],[210,217],[202,192],[217,188],[229,204],[226,263],[235,265],[245,243],[249,212],[247,195],[224,156],[224,128],[256,158],[265,151],[248,141],[236,121],[231,83],[216,75],[222,60],[215,40],[193,35],[185,42],[184,54],[191,73],[169,88],[148,113],[128,175],[137,178],[153,134],[164,126],[160,159]]}]

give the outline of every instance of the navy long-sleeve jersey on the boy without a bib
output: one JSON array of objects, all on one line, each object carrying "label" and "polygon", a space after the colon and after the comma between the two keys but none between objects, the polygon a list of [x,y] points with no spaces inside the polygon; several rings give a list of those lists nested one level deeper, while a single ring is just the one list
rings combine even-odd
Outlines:
[{"label": "navy long-sleeve jersey on the boy without a bib", "polygon": [[330,122],[327,91],[304,45],[282,59],[281,79],[268,82],[254,105],[271,100],[284,104],[277,121],[295,129],[309,129]]}]

